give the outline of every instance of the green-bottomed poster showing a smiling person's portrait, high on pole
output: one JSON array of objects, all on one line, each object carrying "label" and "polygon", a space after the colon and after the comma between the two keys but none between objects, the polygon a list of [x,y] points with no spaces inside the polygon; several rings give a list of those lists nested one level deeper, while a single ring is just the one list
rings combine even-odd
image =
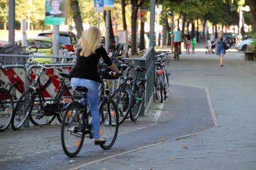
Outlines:
[{"label": "green-bottomed poster showing a smiling person's portrait, high on pole", "polygon": [[65,24],[65,0],[45,1],[45,24],[61,25]]}]

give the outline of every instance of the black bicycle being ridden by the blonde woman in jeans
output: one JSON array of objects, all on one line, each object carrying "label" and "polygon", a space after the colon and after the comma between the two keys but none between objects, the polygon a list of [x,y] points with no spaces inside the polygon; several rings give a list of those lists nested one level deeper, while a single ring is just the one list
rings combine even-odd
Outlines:
[{"label": "black bicycle being ridden by the blonde woman in jeans", "polygon": [[[103,79],[106,72],[101,72]],[[61,124],[61,145],[68,157],[75,157],[84,144],[84,138],[93,138],[92,116],[86,93],[86,87],[75,87],[77,95],[71,97],[71,103],[65,108],[65,115]],[[100,147],[109,149],[117,139],[119,130],[119,114],[115,101],[110,97],[110,91],[106,89],[99,105],[100,136],[106,138],[106,142],[100,142]]]}]

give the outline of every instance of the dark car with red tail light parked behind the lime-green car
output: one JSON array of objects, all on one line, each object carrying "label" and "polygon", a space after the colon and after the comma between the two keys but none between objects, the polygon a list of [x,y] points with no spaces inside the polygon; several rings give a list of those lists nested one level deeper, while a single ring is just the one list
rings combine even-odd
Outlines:
[{"label": "dark car with red tail light parked behind the lime-green car", "polygon": [[[53,31],[44,30],[38,36],[53,37]],[[77,36],[73,32],[59,32],[59,44],[61,48],[73,52],[75,51],[75,44],[77,44]]]}]

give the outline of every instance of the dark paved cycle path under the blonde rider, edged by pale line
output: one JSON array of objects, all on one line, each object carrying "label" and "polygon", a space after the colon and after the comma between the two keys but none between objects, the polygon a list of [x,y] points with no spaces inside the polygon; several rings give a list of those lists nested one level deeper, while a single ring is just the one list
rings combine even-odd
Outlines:
[{"label": "dark paved cycle path under the blonde rider, edged by pale line", "polygon": [[214,127],[205,89],[183,85],[171,85],[171,89],[170,97],[151,105],[137,124],[125,120],[108,151],[86,138],[79,155],[67,157],[61,147],[59,125],[0,132],[0,169],[70,169]]}]

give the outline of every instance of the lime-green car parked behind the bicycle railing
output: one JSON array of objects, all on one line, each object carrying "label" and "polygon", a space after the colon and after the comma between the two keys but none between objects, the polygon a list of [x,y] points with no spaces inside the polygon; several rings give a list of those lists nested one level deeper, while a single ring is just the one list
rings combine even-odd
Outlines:
[{"label": "lime-green car parked behind the bicycle railing", "polygon": [[[28,48],[26,50],[28,51],[30,48],[36,47],[37,51],[33,52],[35,56],[53,56],[53,38],[37,36],[34,38],[28,38],[27,41]],[[34,60],[40,63],[53,62],[53,58],[34,58]]]}]

